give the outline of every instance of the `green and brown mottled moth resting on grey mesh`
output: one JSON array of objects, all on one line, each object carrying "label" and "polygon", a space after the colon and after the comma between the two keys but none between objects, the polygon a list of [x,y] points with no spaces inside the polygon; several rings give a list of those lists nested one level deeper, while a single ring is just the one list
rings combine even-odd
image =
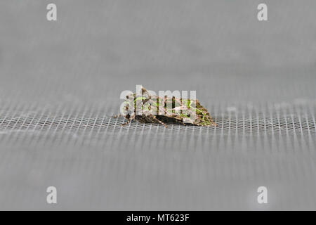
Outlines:
[{"label": "green and brown mottled moth resting on grey mesh", "polygon": [[132,120],[162,124],[164,127],[167,127],[167,124],[217,126],[199,101],[174,96],[159,97],[150,94],[150,91],[143,87],[141,95],[133,93],[126,96],[121,106],[121,114],[114,117],[119,116],[124,116],[127,120],[121,124],[122,126],[129,124]]}]

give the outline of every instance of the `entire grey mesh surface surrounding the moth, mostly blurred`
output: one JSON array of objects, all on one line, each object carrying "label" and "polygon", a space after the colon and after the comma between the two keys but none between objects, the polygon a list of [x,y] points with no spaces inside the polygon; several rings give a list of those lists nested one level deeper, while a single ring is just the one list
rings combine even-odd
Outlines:
[{"label": "entire grey mesh surface surrounding the moth, mostly blurred", "polygon": [[[316,1],[264,2],[0,1],[0,210],[316,210]],[[136,84],[218,127],[120,127]]]}]

